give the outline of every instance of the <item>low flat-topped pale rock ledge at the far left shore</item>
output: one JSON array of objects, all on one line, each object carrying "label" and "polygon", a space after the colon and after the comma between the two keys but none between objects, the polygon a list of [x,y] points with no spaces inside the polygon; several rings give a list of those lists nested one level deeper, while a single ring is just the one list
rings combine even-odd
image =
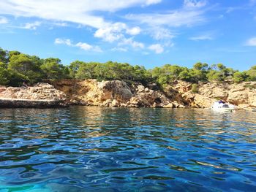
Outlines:
[{"label": "low flat-topped pale rock ledge at the far left shore", "polygon": [[66,95],[48,83],[0,88],[0,107],[65,107]]}]

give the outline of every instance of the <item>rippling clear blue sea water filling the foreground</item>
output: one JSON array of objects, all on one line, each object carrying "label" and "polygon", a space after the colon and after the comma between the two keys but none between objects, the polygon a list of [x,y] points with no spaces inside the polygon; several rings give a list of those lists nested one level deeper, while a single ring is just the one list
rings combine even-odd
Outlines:
[{"label": "rippling clear blue sea water filling the foreground", "polygon": [[256,191],[256,112],[1,109],[0,191]]}]

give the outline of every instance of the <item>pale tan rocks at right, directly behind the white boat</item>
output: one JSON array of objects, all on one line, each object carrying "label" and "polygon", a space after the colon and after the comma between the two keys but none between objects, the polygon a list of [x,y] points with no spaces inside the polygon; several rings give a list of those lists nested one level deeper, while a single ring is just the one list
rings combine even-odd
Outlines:
[{"label": "pale tan rocks at right, directly behind the white boat", "polygon": [[256,107],[256,82],[200,82],[197,93],[192,93],[192,84],[176,81],[173,89],[182,96],[188,107],[211,107],[222,99],[238,108]]}]

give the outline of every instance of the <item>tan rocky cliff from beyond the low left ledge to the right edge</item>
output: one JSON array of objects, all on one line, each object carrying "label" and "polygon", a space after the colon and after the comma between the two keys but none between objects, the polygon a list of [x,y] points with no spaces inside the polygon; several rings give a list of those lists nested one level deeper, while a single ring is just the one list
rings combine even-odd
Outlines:
[{"label": "tan rocky cliff from beyond the low left ledge to the right edge", "polygon": [[[175,81],[164,91],[124,81],[61,80],[52,84],[67,94],[70,104],[105,107],[200,107],[208,108],[222,99],[238,108],[256,107],[256,82],[200,82],[197,93],[192,83]],[[195,92],[195,91],[194,91]]]}]

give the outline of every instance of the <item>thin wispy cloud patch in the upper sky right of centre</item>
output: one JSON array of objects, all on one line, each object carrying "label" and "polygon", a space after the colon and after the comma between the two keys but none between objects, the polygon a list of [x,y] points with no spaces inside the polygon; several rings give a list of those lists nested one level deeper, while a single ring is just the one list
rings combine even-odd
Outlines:
[{"label": "thin wispy cloud patch in the upper sky right of centre", "polygon": [[[189,6],[189,2],[187,1],[187,6]],[[189,9],[182,7],[165,13],[128,14],[125,15],[125,18],[138,23],[139,26],[144,26],[146,33],[157,42],[167,41],[168,44],[173,45],[171,41],[178,35],[173,31],[178,28],[197,26],[206,22],[205,11],[200,8],[203,7],[203,3],[202,6],[195,4],[195,7],[197,8],[193,9],[192,5],[190,5]]]}]

